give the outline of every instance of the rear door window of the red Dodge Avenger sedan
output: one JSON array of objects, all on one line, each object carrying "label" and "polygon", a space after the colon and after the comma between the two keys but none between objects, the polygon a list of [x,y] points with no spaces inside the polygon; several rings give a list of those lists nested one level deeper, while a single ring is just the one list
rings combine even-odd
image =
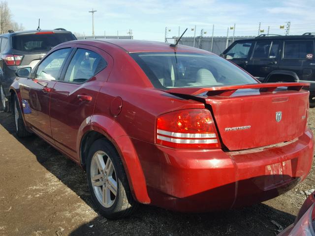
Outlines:
[{"label": "rear door window of the red Dodge Avenger sedan", "polygon": [[83,83],[107,66],[107,62],[97,53],[79,48],[67,68],[65,82]]}]

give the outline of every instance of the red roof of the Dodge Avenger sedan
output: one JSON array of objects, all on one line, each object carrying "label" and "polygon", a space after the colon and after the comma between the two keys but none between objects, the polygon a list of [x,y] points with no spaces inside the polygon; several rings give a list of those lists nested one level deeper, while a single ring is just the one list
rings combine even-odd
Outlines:
[{"label": "red roof of the Dodge Avenger sedan", "polygon": [[[170,47],[170,43],[157,42],[157,41],[146,41],[146,40],[135,40],[135,39],[82,39],[71,41],[71,43],[82,43],[82,44],[90,44],[91,42],[98,42],[100,44],[112,44],[115,45],[128,53],[136,53],[136,52],[191,52],[191,53],[207,53],[212,54],[208,51],[201,50],[194,47],[189,47],[186,45],[179,44],[175,49]],[[66,42],[63,44],[67,44]]]}]

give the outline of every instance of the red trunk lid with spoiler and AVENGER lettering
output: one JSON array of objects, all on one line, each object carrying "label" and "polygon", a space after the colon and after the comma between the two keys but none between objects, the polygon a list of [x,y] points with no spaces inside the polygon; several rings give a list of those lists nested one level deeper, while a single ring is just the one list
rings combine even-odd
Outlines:
[{"label": "red trunk lid with spoiler and AVENGER lettering", "polygon": [[212,88],[174,88],[211,106],[223,145],[229,150],[287,142],[305,130],[308,83],[265,83]]}]

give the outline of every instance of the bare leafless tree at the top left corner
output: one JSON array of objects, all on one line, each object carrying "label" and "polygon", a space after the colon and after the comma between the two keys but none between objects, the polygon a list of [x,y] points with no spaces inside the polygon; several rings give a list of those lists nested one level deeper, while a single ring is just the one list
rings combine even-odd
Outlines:
[{"label": "bare leafless tree at the top left corner", "polygon": [[0,33],[6,33],[9,29],[14,31],[23,30],[22,24],[12,21],[12,14],[7,1],[0,2]]}]

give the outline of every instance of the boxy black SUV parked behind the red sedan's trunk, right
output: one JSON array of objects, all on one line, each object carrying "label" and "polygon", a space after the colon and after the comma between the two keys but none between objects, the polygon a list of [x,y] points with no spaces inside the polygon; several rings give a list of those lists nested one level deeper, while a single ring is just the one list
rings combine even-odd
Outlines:
[{"label": "boxy black SUV parked behind the red sedan's trunk, right", "polygon": [[308,82],[310,106],[315,106],[315,33],[266,35],[237,40],[221,54],[259,81]]}]

